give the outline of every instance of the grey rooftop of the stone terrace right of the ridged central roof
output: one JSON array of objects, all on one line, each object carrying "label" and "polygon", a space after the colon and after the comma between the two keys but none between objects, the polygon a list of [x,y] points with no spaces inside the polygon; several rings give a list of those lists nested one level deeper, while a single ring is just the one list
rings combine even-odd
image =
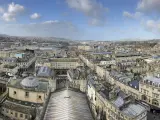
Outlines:
[{"label": "grey rooftop of the stone terrace right of the ridged central roof", "polygon": [[100,83],[96,84],[96,82],[93,80],[89,81],[89,85],[90,84],[92,84],[95,89],[99,88],[99,95],[102,96],[104,100],[107,99],[108,101],[110,101],[113,106],[115,106],[126,116],[135,118],[146,111],[145,107],[135,103],[130,95],[127,95],[116,86],[108,86],[107,89],[106,86],[104,87]]}]

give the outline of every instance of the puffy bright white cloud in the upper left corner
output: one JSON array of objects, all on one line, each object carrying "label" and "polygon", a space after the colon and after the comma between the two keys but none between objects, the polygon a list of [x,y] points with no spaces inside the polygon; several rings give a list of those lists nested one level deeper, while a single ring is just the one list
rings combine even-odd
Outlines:
[{"label": "puffy bright white cloud in the upper left corner", "polygon": [[24,6],[11,3],[8,5],[8,10],[3,13],[1,18],[6,22],[15,21],[16,16],[24,12],[24,10]]}]

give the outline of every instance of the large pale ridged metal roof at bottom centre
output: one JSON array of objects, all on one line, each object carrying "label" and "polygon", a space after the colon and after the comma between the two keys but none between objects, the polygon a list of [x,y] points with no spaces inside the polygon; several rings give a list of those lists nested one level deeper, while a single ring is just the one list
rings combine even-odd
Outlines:
[{"label": "large pale ridged metal roof at bottom centre", "polygon": [[44,120],[62,119],[93,120],[85,94],[64,90],[51,95]]}]

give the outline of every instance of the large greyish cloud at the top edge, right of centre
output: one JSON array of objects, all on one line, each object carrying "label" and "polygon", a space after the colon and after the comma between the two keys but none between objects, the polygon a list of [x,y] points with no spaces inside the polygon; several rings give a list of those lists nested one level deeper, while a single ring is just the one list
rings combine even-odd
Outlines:
[{"label": "large greyish cloud at the top edge, right of centre", "polygon": [[76,9],[89,17],[92,25],[102,25],[106,23],[106,11],[101,3],[96,0],[66,0],[70,8]]}]

